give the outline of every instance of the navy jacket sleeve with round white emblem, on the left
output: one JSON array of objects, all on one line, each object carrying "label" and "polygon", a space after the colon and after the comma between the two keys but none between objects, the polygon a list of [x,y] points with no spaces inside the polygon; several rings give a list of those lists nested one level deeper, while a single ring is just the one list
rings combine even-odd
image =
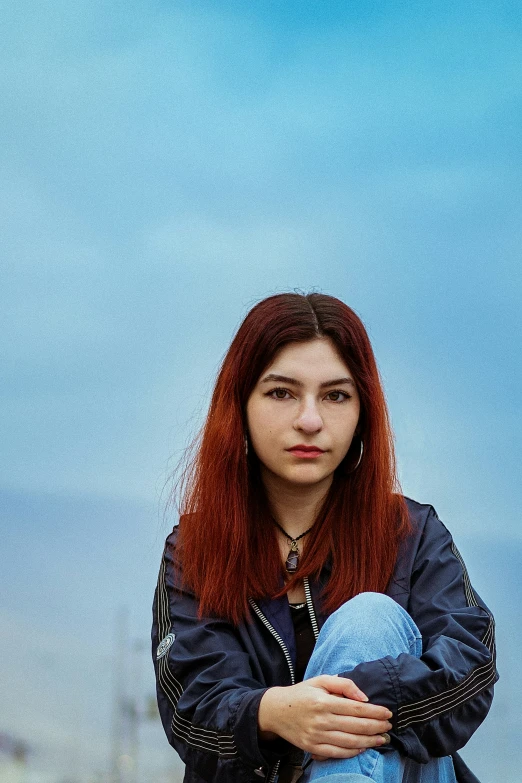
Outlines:
[{"label": "navy jacket sleeve with round white emblem, on the left", "polygon": [[[158,707],[169,743],[203,780],[251,780],[281,756],[260,743],[259,702],[266,686],[252,675],[236,629],[198,619],[198,603],[181,588],[175,532],[163,553],[154,595],[152,656]],[[254,777],[255,779],[255,777]]]}]

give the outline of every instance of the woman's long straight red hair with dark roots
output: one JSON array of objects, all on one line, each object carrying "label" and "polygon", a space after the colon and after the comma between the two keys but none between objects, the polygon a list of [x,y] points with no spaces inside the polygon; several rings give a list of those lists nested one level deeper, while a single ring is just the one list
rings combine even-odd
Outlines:
[{"label": "woman's long straight red hair with dark roots", "polygon": [[[295,576],[281,589],[283,565],[253,449],[245,453],[246,405],[261,373],[292,342],[329,337],[356,383],[359,441],[337,468]],[[219,371],[206,423],[181,482],[177,554],[202,614],[239,623],[248,599],[281,595],[318,575],[331,555],[327,612],[367,590],[383,592],[400,538],[409,529],[396,477],[393,435],[379,371],[364,325],[332,296],[278,294],[255,305]]]}]

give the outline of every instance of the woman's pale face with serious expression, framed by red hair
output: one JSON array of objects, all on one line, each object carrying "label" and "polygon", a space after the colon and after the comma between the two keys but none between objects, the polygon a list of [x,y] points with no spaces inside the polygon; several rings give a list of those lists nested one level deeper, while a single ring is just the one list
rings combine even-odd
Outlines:
[{"label": "woman's pale face with serious expression, framed by red hair", "polygon": [[265,484],[329,486],[350,448],[359,411],[353,376],[329,338],[282,348],[247,403]]}]

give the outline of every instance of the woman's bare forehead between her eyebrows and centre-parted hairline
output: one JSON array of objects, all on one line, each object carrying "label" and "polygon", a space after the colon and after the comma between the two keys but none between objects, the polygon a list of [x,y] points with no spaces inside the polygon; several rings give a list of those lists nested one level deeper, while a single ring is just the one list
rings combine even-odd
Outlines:
[{"label": "woman's bare forehead between her eyebrows and centre-parted hairline", "polygon": [[348,365],[339,356],[329,337],[285,345],[261,374],[261,379],[268,372],[290,375],[302,382],[351,375]]}]

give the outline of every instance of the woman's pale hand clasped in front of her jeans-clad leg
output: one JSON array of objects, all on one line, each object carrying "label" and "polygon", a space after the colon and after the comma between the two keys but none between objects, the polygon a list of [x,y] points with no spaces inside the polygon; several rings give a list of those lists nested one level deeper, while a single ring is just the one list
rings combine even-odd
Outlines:
[{"label": "woman's pale hand clasped in front of her jeans-clad leg", "polygon": [[[340,698],[341,697],[341,698]],[[322,674],[287,687],[269,688],[259,704],[261,737],[283,737],[316,759],[352,758],[386,743],[386,707],[369,704],[352,680]]]}]

